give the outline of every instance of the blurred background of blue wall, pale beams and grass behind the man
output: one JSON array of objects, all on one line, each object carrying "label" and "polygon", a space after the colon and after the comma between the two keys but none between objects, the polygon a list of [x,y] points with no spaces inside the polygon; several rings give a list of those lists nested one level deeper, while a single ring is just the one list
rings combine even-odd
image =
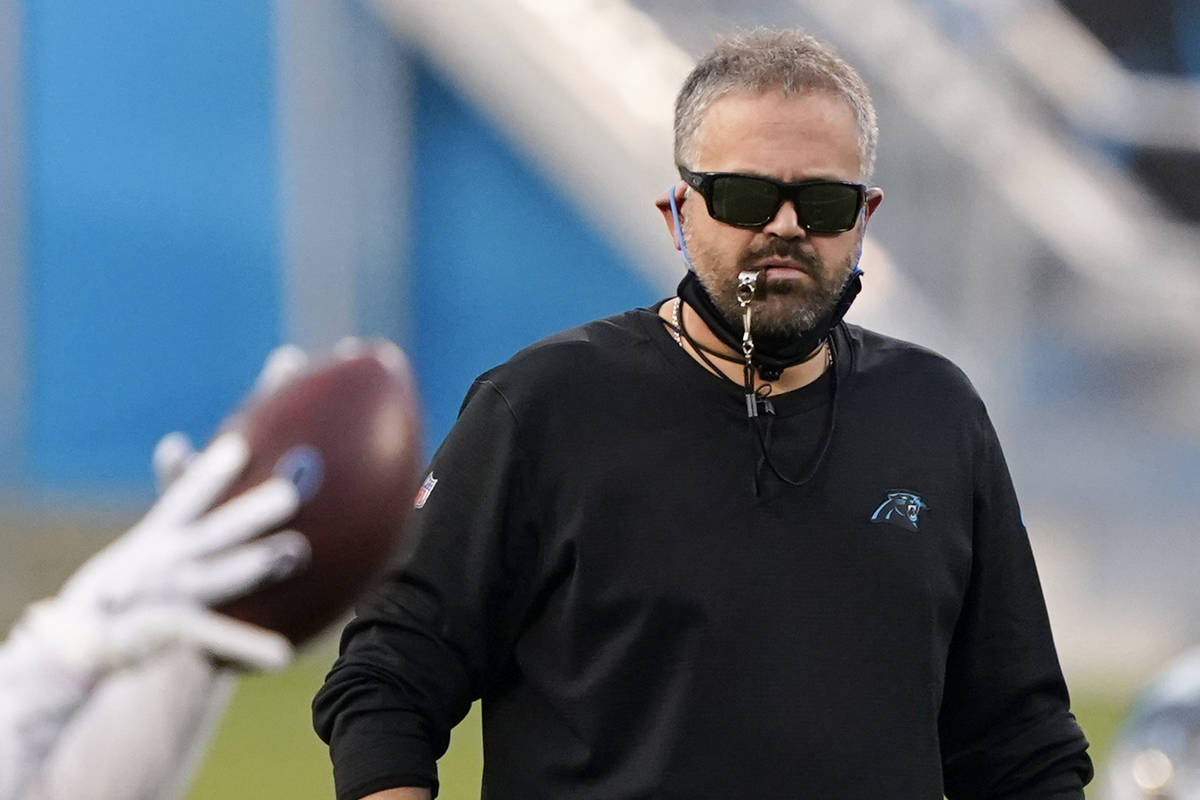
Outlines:
[{"label": "blurred background of blue wall, pale beams and grass behind the man", "polygon": [[[0,0],[0,619],[276,344],[397,341],[432,447],[479,372],[673,294],[673,96],[755,24],[872,89],[887,200],[848,319],[983,393],[1103,763],[1200,640],[1192,0]],[[244,681],[192,796],[331,796],[331,658]],[[476,738],[443,796],[478,796]]]}]

